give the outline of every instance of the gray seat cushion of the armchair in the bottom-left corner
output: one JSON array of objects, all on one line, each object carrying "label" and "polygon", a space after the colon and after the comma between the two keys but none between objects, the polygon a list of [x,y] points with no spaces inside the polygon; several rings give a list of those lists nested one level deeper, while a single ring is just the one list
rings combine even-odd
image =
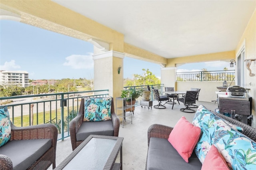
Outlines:
[{"label": "gray seat cushion of the armchair in the bottom-left corner", "polygon": [[12,160],[14,170],[26,170],[52,146],[51,139],[10,140],[0,154]]}]

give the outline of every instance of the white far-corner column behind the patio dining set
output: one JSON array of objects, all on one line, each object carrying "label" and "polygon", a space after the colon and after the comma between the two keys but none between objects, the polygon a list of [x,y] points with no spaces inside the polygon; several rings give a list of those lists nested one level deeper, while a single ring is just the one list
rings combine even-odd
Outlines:
[{"label": "white far-corner column behind the patio dining set", "polygon": [[174,87],[175,91],[177,91],[176,71],[177,71],[177,67],[161,68],[161,83],[164,84],[164,87]]}]

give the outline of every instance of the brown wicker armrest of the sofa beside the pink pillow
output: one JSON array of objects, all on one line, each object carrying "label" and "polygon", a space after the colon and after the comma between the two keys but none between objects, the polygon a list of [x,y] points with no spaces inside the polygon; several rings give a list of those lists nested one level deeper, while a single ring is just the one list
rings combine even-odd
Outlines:
[{"label": "brown wicker armrest of the sofa beside the pink pillow", "polygon": [[148,146],[151,137],[168,139],[173,127],[153,124],[148,128]]}]

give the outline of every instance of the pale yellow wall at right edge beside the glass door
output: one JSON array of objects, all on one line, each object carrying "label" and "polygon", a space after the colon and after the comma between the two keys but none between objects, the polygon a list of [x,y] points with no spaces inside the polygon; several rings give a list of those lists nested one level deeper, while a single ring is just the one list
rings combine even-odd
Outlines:
[{"label": "pale yellow wall at right edge beside the glass door", "polygon": [[[236,47],[236,54],[238,54],[245,42],[245,59],[256,59],[256,9],[246,29],[244,30],[244,34],[242,35],[240,42]],[[250,65],[250,69],[252,73],[255,74],[254,77],[249,76],[249,71],[246,69],[245,71],[245,85],[249,90],[249,97],[252,97],[252,115],[254,116],[252,120],[252,127],[256,128],[256,61],[252,61]]]}]

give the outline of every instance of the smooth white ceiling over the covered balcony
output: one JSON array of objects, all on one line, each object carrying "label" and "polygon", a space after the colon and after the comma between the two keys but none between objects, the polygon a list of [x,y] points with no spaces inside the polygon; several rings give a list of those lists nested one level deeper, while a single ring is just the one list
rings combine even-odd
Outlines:
[{"label": "smooth white ceiling over the covered balcony", "polygon": [[53,0],[166,58],[233,51],[256,0]]}]

